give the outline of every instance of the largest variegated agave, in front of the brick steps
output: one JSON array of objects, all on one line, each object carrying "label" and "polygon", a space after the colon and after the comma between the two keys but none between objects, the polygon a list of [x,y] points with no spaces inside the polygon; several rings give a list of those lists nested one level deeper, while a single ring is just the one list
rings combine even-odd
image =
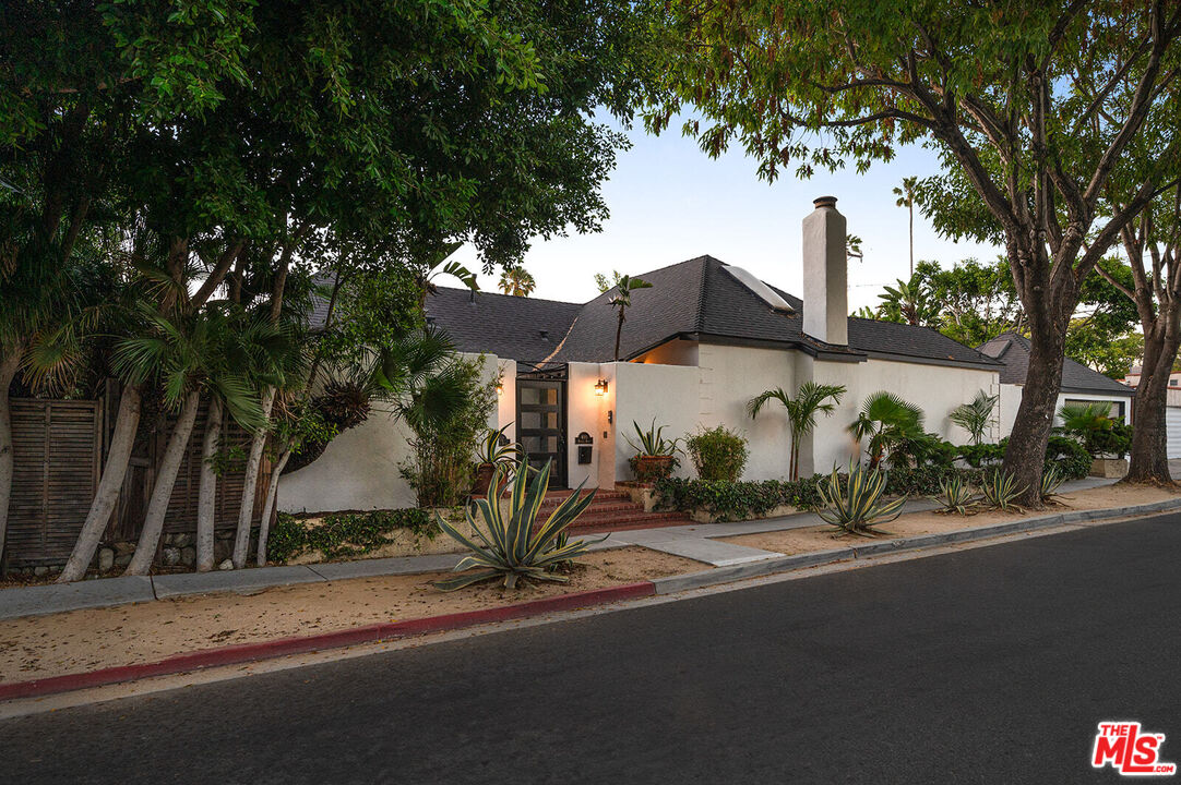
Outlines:
[{"label": "largest variegated agave, in front of the brick steps", "polygon": [[[524,460],[517,462],[511,470],[505,463],[497,465],[488,488],[488,497],[475,499],[464,509],[464,517],[476,539],[469,538],[441,516],[435,516],[443,531],[471,551],[471,555],[455,565],[455,571],[465,573],[471,568],[484,568],[477,573],[436,581],[436,588],[454,591],[490,578],[503,578],[507,589],[516,588],[521,578],[559,583],[568,580],[550,571],[550,568],[585,552],[593,542],[600,542],[587,539],[569,542],[565,537],[566,529],[590,505],[595,492],[592,490],[580,496],[582,485],[579,485],[544,523],[535,525],[541,503],[546,501],[549,470],[549,462],[533,475],[527,471]],[[505,515],[498,501],[508,471],[514,472],[514,478],[513,495]],[[582,484],[586,484],[586,480]],[[477,516],[483,525],[477,522]]]}]

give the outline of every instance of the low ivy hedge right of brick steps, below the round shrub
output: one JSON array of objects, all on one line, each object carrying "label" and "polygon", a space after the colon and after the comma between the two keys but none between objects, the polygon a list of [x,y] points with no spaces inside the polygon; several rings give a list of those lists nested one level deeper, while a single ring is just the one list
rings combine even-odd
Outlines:
[{"label": "low ivy hedge right of brick steps, below the round shrub", "polygon": [[663,479],[654,485],[657,505],[679,512],[709,512],[718,521],[758,518],[777,506],[788,504],[801,510],[813,510],[821,504],[817,482],[810,479],[723,483],[678,477]]}]

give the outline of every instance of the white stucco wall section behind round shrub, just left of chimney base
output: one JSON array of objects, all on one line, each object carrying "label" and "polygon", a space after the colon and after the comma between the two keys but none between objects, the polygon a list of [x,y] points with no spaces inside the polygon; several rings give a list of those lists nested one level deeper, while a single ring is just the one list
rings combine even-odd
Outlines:
[{"label": "white stucco wall section behind round shrub, just left of chimney base", "polygon": [[788,420],[783,406],[771,401],[758,419],[746,414],[746,404],[765,390],[795,392],[795,351],[702,344],[700,419],[705,427],[725,425],[749,440],[750,456],[743,479],[781,479],[788,476]]}]

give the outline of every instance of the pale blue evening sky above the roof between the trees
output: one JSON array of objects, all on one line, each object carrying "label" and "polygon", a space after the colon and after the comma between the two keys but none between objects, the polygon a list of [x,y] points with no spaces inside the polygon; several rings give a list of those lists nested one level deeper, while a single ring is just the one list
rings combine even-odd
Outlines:
[{"label": "pale blue evening sky above the roof between the trees", "polygon": [[[866,175],[817,171],[800,181],[787,172],[768,184],[757,177],[755,159],[740,150],[711,159],[676,127],[659,137],[639,127],[628,132],[633,146],[619,153],[602,188],[611,210],[602,231],[534,242],[524,257],[537,282],[533,296],[585,302],[598,294],[595,273],[642,274],[703,254],[802,294],[801,222],[813,199],[828,195],[837,197],[849,233],[862,238],[864,259],[849,261],[850,312],[876,305],[885,284],[908,276],[907,210],[895,205],[892,189],[903,177],[938,172],[933,152],[909,146]],[[1001,250],[940,238],[915,210],[915,262],[947,267],[968,257],[996,259]],[[479,267],[471,248],[455,259],[470,269]],[[496,292],[497,279],[481,274],[481,289]]]}]

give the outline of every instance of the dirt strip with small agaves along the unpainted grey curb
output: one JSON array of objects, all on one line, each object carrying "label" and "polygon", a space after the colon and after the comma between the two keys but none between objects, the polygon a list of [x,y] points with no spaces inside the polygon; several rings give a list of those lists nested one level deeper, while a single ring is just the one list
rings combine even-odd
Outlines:
[{"label": "dirt strip with small agaves along the unpainted grey curb", "polygon": [[[1151,504],[1181,496],[1181,489],[1147,488],[1108,485],[1094,488],[1087,491],[1068,493],[1057,498],[1056,503],[1045,510],[1030,512],[978,512],[976,515],[944,515],[940,512],[912,512],[903,515],[896,521],[883,523],[882,531],[896,537],[908,537],[913,535],[937,534],[941,531],[954,531],[957,529],[974,529],[986,526],[991,523],[1005,523],[1025,517],[1039,517],[1065,512],[1068,510],[1098,510],[1115,506],[1131,506],[1135,504]],[[814,526],[809,529],[790,529],[788,531],[771,531],[762,535],[743,535],[739,537],[725,537],[724,542],[749,548],[762,548],[781,554],[809,554],[817,550],[831,550],[843,548],[849,544],[864,543],[862,537],[850,535],[835,536],[833,526]]]}]

